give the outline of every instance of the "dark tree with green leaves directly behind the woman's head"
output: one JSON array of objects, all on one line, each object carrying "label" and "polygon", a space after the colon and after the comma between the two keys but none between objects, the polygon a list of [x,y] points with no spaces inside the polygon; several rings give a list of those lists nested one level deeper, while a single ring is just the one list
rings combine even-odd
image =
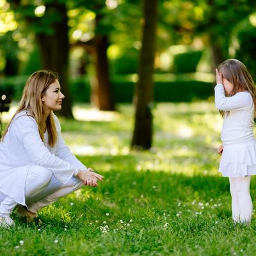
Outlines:
[{"label": "dark tree with green leaves directly behind the woman's head", "polygon": [[[71,101],[68,92],[68,26],[65,1],[45,0],[41,6],[36,1],[8,0],[20,22],[26,22],[34,33],[40,47],[42,67],[57,72],[65,104],[61,115],[72,118]],[[36,8],[44,10],[36,15]]]}]

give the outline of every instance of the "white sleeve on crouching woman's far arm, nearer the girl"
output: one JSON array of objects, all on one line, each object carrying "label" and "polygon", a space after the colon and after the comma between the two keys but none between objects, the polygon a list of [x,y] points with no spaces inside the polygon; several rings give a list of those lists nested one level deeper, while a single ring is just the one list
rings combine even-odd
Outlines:
[{"label": "white sleeve on crouching woman's far arm, nearer the girl", "polygon": [[58,140],[56,143],[56,156],[59,157],[60,159],[63,159],[67,161],[68,163],[72,164],[73,166],[76,166],[76,168],[81,169],[81,170],[87,170],[86,166],[82,164],[74,154],[70,152],[70,149],[67,147],[65,144],[62,136],[61,136],[61,126],[60,122],[57,118],[57,116],[54,115],[54,122],[56,124],[56,129],[58,132]]}]

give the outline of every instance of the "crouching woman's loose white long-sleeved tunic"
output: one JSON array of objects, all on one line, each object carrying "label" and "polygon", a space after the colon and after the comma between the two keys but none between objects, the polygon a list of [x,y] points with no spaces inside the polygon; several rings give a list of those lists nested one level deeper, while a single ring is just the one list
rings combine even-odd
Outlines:
[{"label": "crouching woman's loose white long-sleeved tunic", "polygon": [[86,169],[65,145],[57,116],[54,122],[58,139],[54,147],[48,145],[48,134],[41,140],[35,118],[26,111],[18,113],[0,143],[0,191],[25,205],[25,182],[31,166],[40,165],[51,170],[61,183],[67,182],[79,169]]}]

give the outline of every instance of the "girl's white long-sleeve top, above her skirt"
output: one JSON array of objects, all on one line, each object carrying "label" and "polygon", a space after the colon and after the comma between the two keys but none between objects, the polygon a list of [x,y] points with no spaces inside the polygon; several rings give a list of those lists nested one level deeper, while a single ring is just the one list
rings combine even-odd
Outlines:
[{"label": "girl's white long-sleeve top, above her skirt", "polygon": [[253,140],[254,104],[249,92],[238,92],[232,97],[225,97],[223,84],[217,84],[215,91],[215,106],[227,111],[223,118],[221,141],[236,143],[236,141]]}]

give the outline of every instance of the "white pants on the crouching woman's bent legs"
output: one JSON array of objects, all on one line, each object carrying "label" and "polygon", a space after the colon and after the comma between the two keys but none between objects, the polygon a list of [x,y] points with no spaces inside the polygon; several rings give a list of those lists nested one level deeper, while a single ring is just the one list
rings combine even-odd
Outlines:
[{"label": "white pants on the crouching woman's bent legs", "polygon": [[[29,169],[25,184],[26,205],[29,211],[37,212],[50,205],[58,198],[69,195],[83,186],[82,180],[72,177],[66,184],[61,184],[50,170],[42,166]],[[17,202],[0,192],[0,216],[9,215]]]}]

